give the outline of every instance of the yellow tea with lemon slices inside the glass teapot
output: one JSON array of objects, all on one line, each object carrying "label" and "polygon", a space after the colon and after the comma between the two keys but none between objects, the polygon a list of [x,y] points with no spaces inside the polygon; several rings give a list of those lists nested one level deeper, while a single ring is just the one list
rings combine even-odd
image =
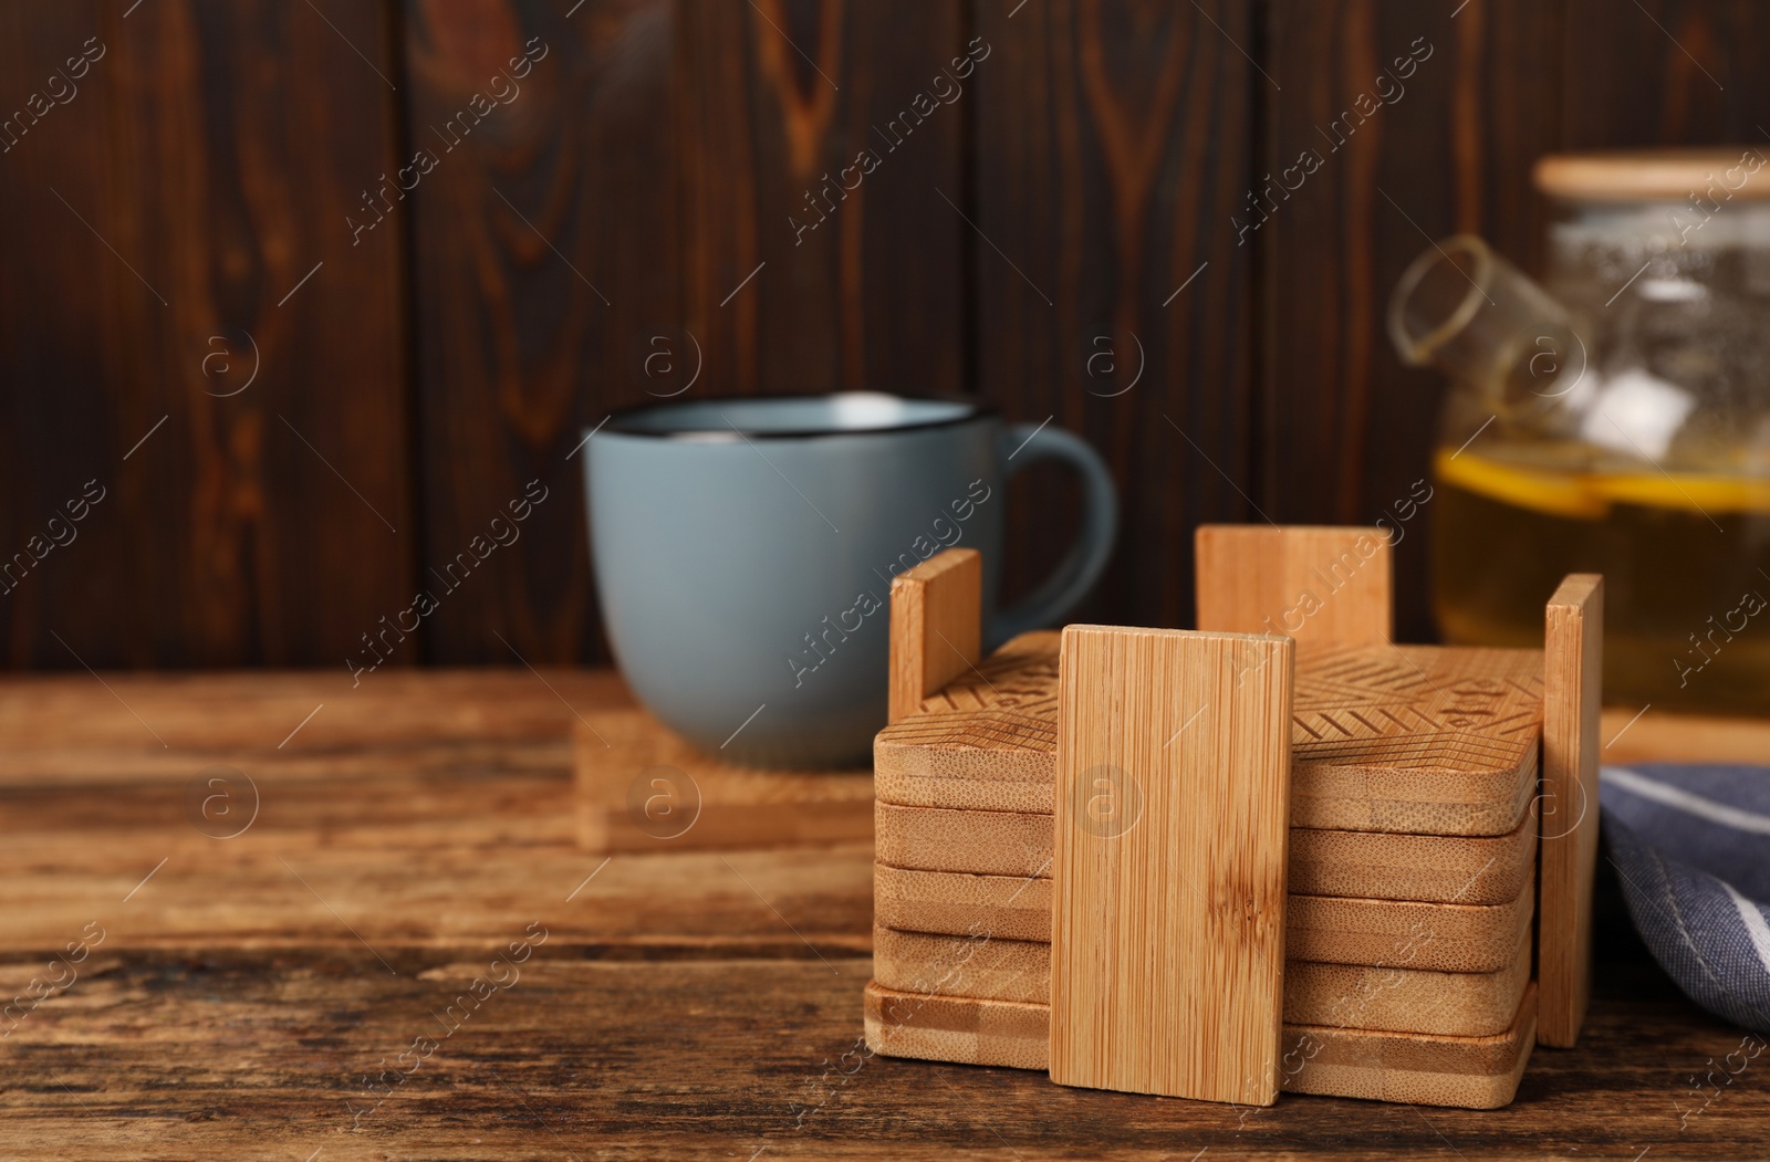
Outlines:
[{"label": "yellow tea with lemon slices inside the glass teapot", "polygon": [[1540,646],[1561,578],[1604,573],[1605,702],[1770,709],[1770,479],[1565,467],[1588,462],[1542,444],[1439,449],[1446,640]]}]

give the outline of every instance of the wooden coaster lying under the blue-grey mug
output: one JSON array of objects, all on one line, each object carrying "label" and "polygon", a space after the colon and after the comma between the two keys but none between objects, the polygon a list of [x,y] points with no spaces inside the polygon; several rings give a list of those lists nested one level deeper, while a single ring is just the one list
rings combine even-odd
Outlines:
[{"label": "wooden coaster lying under the blue-grey mug", "polygon": [[873,776],[708,759],[641,709],[573,727],[579,844],[589,852],[873,838]]}]

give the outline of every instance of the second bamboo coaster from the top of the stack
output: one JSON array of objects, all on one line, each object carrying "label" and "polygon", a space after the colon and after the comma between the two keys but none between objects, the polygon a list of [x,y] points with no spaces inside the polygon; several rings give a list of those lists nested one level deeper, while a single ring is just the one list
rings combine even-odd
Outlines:
[{"label": "second bamboo coaster from the top of the stack", "polygon": [[[1434,904],[1508,904],[1536,874],[1536,817],[1510,835],[1290,828],[1290,891]],[[880,863],[924,872],[1048,875],[1051,817],[880,803]]]}]

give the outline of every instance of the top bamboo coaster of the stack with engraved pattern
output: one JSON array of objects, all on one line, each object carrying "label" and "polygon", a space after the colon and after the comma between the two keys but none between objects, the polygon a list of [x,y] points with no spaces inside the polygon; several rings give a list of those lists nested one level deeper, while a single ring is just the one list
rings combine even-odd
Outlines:
[{"label": "top bamboo coaster of the stack with engraved pattern", "polygon": [[[1055,633],[1027,633],[880,732],[881,803],[1050,814]],[[1290,822],[1338,831],[1499,837],[1536,792],[1543,656],[1535,649],[1365,646],[1297,661]]]}]

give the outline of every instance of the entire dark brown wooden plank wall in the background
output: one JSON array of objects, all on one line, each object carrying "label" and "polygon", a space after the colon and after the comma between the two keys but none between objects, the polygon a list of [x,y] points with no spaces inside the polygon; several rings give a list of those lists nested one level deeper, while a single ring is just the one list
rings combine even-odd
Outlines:
[{"label": "entire dark brown wooden plank wall in the background", "polygon": [[[1531,265],[1536,154],[1758,140],[1770,96],[1752,0],[131,4],[0,11],[0,113],[51,97],[0,152],[0,552],[106,488],[0,596],[14,669],[338,665],[418,585],[395,663],[605,660],[572,453],[696,373],[1085,433],[1126,525],[1081,615],[1188,624],[1193,524],[1368,522],[1425,476],[1443,387],[1382,306],[1428,235]],[[1016,486],[1011,592],[1073,520]]]}]

